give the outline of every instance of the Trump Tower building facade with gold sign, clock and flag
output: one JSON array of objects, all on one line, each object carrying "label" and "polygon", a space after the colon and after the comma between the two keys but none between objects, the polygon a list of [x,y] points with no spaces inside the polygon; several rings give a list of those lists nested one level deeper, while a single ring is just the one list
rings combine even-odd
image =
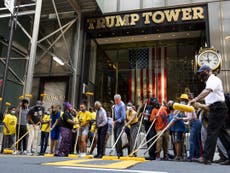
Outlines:
[{"label": "Trump Tower building facade with gold sign, clock and flag", "polygon": [[[25,7],[18,14],[29,8],[36,13],[39,1],[35,7],[21,4]],[[33,68],[29,63],[33,46],[22,28],[32,33],[36,17],[31,15],[36,14],[18,16],[24,27],[15,31],[11,79],[5,94],[8,100],[16,102],[23,92],[32,93],[33,100],[47,93],[46,106],[64,100],[78,106],[82,99],[89,105],[100,100],[109,106],[119,93],[124,102],[136,105],[150,97],[162,103],[185,91],[199,93],[203,86],[196,69],[205,63],[221,77],[225,92],[230,91],[230,1],[55,2],[42,2]],[[0,17],[7,28],[9,16],[1,11]],[[7,33],[0,28],[1,75]],[[33,80],[28,82],[31,73]]]}]

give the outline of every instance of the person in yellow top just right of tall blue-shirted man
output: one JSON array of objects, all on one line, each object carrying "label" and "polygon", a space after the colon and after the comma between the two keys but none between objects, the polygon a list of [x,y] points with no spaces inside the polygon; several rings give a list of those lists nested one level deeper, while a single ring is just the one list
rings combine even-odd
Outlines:
[{"label": "person in yellow top just right of tall blue-shirted man", "polygon": [[126,111],[126,123],[125,127],[130,126],[130,151],[132,152],[136,146],[134,146],[135,139],[138,132],[138,117],[137,112],[134,110],[134,105],[129,102],[127,104],[127,111]]}]

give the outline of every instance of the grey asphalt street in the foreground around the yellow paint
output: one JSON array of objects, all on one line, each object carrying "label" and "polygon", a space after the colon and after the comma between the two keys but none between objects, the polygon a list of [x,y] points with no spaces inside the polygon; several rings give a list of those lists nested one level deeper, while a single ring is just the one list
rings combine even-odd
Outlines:
[{"label": "grey asphalt street in the foreground around the yellow paint", "polygon": [[[63,166],[57,163],[73,161],[70,158],[0,155],[0,173],[230,173],[229,166],[218,164],[203,165],[193,162],[147,161],[127,169],[105,169],[93,166]],[[44,165],[56,162],[57,165]],[[112,161],[97,160],[96,164],[108,164]]]}]

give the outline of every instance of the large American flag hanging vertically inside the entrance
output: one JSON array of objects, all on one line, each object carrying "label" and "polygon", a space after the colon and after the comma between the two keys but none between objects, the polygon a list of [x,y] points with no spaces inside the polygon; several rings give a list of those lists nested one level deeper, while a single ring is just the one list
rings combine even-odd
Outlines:
[{"label": "large American flag hanging vertically inside the entrance", "polygon": [[157,97],[167,101],[167,48],[129,50],[129,100],[140,105],[143,100]]}]

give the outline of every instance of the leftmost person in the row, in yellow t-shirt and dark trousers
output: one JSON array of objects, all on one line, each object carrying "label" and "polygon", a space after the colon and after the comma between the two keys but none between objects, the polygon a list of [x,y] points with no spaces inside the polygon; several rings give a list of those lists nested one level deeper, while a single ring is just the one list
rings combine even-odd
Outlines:
[{"label": "leftmost person in the row, in yellow t-shirt and dark trousers", "polygon": [[11,148],[15,142],[16,134],[16,108],[12,107],[3,119],[3,148]]}]

